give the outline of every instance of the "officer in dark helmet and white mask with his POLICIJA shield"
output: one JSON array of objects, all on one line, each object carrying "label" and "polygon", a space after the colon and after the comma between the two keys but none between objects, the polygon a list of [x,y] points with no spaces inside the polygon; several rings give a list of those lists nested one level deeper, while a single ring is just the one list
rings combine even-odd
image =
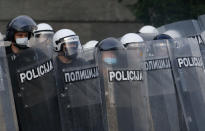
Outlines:
[{"label": "officer in dark helmet and white mask with his POLICIJA shield", "polygon": [[[29,48],[36,23],[18,16],[7,25],[7,59],[20,131],[59,131],[53,63],[37,47]],[[41,68],[41,69],[40,69]]]}]

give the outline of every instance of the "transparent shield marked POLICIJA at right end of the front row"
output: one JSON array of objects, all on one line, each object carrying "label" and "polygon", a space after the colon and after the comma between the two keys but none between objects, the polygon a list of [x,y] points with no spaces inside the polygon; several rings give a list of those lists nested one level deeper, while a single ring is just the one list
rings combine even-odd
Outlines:
[{"label": "transparent shield marked POLICIJA at right end of the front row", "polygon": [[187,130],[204,131],[205,75],[198,43],[179,39],[169,43],[168,49]]}]

